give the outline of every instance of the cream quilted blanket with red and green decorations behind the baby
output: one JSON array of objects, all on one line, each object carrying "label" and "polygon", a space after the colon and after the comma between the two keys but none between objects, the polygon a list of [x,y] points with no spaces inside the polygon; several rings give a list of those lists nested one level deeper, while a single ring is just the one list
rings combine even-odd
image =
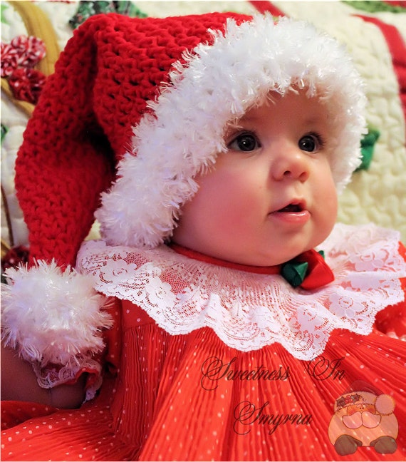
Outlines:
[{"label": "cream quilted blanket with red and green decorations behind the baby", "polygon": [[[405,1],[2,1],[2,256],[11,247],[28,246],[14,191],[14,162],[43,81],[53,72],[73,29],[88,16],[108,11],[159,17],[270,11],[306,19],[335,36],[353,55],[365,80],[370,130],[363,140],[363,168],[353,173],[340,196],[338,220],[392,227],[406,242]],[[91,237],[97,232],[96,224]]]}]

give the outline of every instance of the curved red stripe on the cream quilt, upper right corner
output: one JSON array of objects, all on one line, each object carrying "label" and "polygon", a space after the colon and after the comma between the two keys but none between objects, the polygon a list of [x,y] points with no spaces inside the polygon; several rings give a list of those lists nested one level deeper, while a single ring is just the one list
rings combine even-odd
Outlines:
[{"label": "curved red stripe on the cream quilt, upper right corner", "polygon": [[400,32],[395,26],[386,24],[380,19],[372,16],[363,16],[357,14],[366,22],[370,22],[378,26],[383,36],[385,37],[387,47],[392,55],[392,64],[399,83],[400,101],[402,101],[403,116],[406,123],[406,45]]}]

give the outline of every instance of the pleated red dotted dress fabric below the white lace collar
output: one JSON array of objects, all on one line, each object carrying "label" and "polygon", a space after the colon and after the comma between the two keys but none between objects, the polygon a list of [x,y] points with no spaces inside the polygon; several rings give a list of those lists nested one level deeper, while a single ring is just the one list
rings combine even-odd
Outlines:
[{"label": "pleated red dotted dress fabric below the white lace collar", "polygon": [[[118,378],[81,409],[43,409],[3,431],[2,460],[405,460],[400,340],[335,331],[322,356],[301,361],[279,344],[237,351],[209,328],[171,336],[130,302],[122,308]],[[386,456],[373,446],[341,456],[330,441],[335,404],[360,381],[395,405],[396,451]],[[33,405],[24,406],[27,417]],[[15,408],[4,404],[3,419]],[[385,418],[360,437],[397,431]]]}]

